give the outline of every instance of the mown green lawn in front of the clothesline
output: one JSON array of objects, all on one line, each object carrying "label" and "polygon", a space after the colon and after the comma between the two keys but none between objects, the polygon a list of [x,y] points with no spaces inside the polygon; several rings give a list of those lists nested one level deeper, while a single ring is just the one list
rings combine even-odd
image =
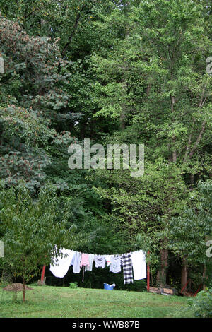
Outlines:
[{"label": "mown green lawn in front of the clothesline", "polygon": [[124,290],[31,286],[22,303],[0,288],[0,318],[163,318],[179,316],[184,297]]}]

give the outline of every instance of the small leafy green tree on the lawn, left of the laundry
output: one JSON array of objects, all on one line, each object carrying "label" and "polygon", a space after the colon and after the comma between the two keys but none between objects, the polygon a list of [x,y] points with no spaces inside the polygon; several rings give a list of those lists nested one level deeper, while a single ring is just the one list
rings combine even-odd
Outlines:
[{"label": "small leafy green tree on the lawn, left of the laundry", "polygon": [[61,206],[55,186],[43,187],[34,201],[24,183],[11,189],[1,184],[0,197],[3,260],[11,277],[22,279],[25,302],[25,285],[42,265],[61,255],[61,248],[78,249],[87,240],[76,232],[73,223],[67,227],[70,211]]}]

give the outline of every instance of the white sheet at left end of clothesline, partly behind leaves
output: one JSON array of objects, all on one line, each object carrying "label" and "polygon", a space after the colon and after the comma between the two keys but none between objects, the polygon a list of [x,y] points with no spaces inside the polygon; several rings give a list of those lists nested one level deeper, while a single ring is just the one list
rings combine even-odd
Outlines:
[{"label": "white sheet at left end of clothesline, partly behind leaves", "polygon": [[50,265],[50,271],[57,278],[64,278],[69,270],[75,251],[63,248],[61,249],[61,253],[63,256],[55,257],[53,263]]}]

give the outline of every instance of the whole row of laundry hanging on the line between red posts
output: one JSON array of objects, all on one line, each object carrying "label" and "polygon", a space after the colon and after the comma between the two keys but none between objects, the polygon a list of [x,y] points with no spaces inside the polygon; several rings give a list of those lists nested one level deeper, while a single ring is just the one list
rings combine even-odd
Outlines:
[{"label": "whole row of laundry hanging on the line between red posts", "polygon": [[126,254],[98,255],[61,249],[61,253],[63,256],[54,257],[50,265],[50,271],[57,278],[64,278],[70,266],[73,266],[73,273],[80,273],[82,267],[83,273],[92,271],[93,263],[95,268],[105,268],[107,263],[112,273],[119,273],[123,268],[124,284],[146,278],[146,254],[142,250]]}]

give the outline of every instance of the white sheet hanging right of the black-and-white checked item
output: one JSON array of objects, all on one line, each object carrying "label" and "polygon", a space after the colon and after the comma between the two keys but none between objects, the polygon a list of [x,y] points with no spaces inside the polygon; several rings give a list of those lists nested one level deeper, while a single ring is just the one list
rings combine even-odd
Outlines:
[{"label": "white sheet hanging right of the black-and-white checked item", "polygon": [[131,261],[134,271],[134,280],[146,278],[146,256],[142,250],[131,253]]}]

